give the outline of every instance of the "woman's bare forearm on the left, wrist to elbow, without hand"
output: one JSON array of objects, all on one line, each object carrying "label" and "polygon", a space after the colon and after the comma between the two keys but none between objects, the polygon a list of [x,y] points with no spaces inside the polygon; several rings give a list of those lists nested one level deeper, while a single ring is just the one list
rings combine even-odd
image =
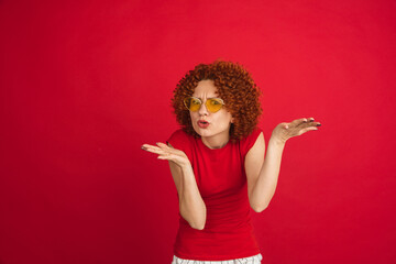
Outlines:
[{"label": "woman's bare forearm on the left, wrist to elbow, without hand", "polygon": [[180,215],[191,228],[202,230],[206,222],[207,210],[199,193],[194,170],[191,166],[186,166],[182,170]]}]

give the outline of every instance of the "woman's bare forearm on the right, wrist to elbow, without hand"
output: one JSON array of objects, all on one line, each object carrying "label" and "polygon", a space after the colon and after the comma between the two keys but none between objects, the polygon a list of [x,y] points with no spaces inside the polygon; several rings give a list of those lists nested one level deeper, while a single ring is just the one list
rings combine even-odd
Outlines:
[{"label": "woman's bare forearm on the right, wrist to elbow, without hand", "polygon": [[280,161],[285,143],[273,136],[270,139],[264,164],[252,189],[251,205],[255,211],[263,211],[273,198],[279,176]]}]

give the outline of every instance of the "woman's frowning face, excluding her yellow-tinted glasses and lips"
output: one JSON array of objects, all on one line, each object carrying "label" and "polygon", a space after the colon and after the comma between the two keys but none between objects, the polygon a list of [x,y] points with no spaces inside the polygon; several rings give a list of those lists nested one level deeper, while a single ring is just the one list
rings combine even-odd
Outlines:
[{"label": "woman's frowning face, excluding her yellow-tinted glasses and lips", "polygon": [[[197,97],[202,101],[200,109],[196,112],[190,111],[194,130],[201,138],[212,138],[217,141],[229,140],[229,131],[233,121],[230,112],[222,107],[219,111],[209,112],[206,107],[208,98],[219,98],[213,80],[201,80],[195,88],[193,97]],[[202,125],[199,121],[205,120],[209,125]]]}]

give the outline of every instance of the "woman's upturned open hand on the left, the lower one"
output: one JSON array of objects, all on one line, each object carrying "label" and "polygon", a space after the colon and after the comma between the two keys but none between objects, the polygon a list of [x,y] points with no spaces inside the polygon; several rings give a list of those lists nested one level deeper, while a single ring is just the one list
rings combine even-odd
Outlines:
[{"label": "woman's upturned open hand on the left, the lower one", "polygon": [[157,157],[158,160],[167,160],[167,161],[174,162],[180,168],[191,165],[186,153],[184,153],[183,151],[169,147],[168,145],[161,143],[161,142],[157,142],[156,144],[157,144],[157,146],[143,144],[142,150],[154,153],[154,154],[158,154],[158,157]]}]

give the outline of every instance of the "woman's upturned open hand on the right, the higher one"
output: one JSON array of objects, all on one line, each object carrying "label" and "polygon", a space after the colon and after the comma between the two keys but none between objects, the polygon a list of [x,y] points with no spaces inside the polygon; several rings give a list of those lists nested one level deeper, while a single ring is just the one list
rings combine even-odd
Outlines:
[{"label": "woman's upturned open hand on the right, the higher one", "polygon": [[315,122],[314,118],[296,119],[290,123],[279,123],[273,130],[272,138],[280,144],[285,144],[286,141],[293,136],[301,135],[311,130],[318,130],[320,122]]}]

